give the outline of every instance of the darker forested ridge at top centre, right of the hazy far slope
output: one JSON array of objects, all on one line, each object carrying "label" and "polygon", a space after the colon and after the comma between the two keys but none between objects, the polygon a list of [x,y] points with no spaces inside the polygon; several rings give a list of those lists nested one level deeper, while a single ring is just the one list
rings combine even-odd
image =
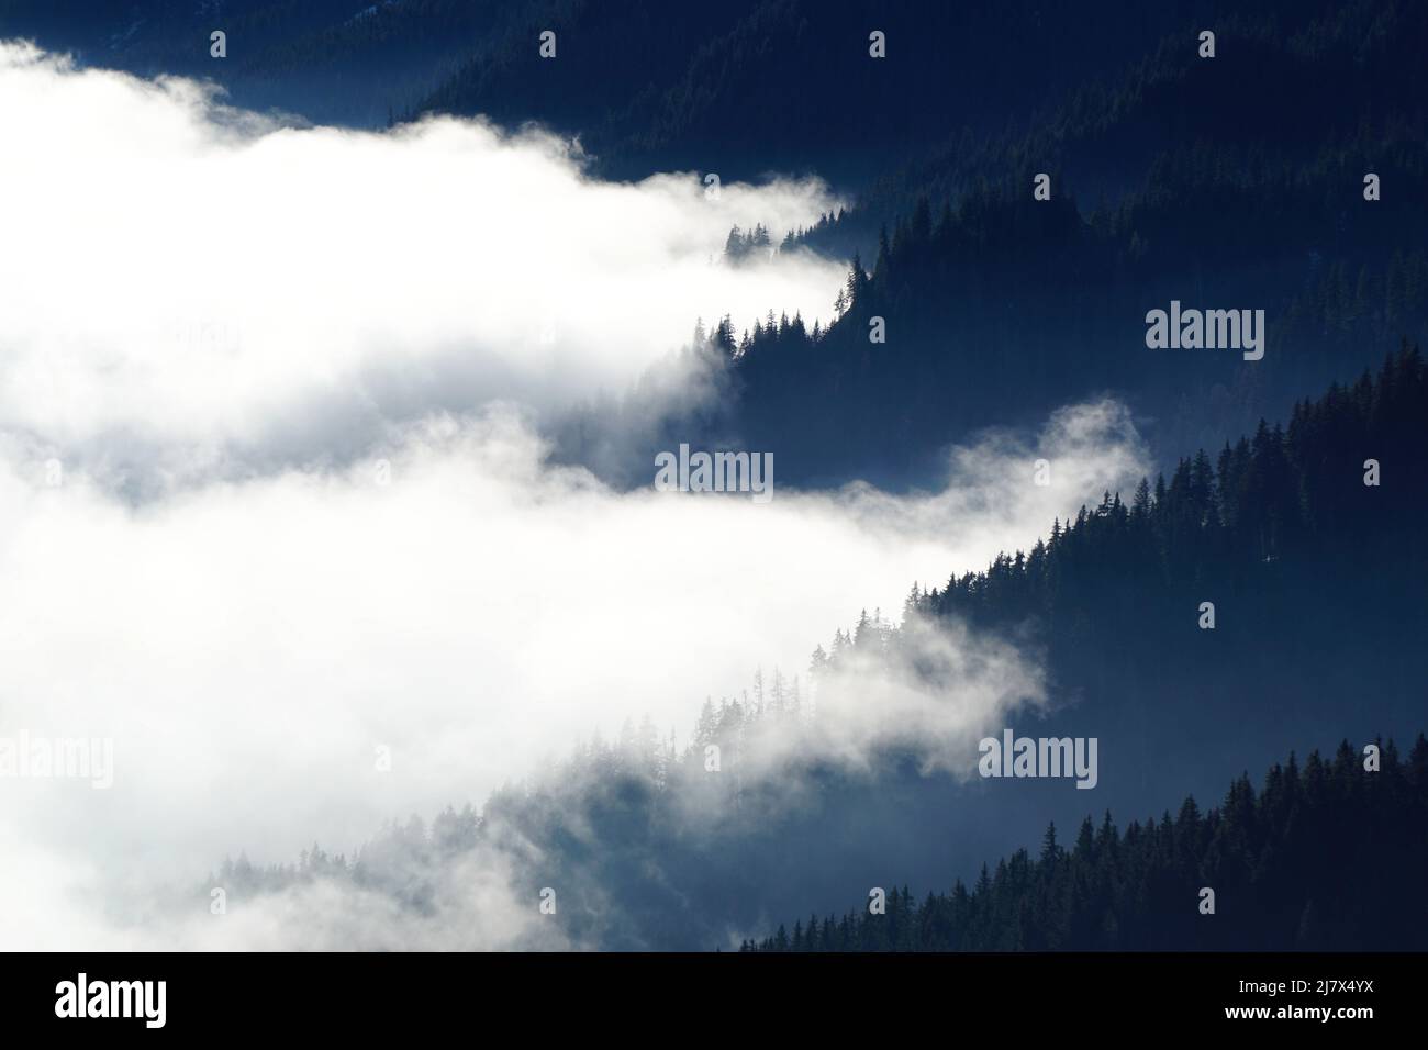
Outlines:
[{"label": "darker forested ridge at top centre, right of the hazy far slope", "polygon": [[[1035,0],[734,0],[663,19],[633,0],[531,6],[533,29],[558,31],[567,57],[547,69],[530,49],[473,59],[420,109],[527,117],[526,100],[538,100],[544,120],[583,131],[620,177],[674,167],[861,180],[928,136],[1028,116],[1042,91],[1140,56],[1214,4],[1115,3],[1098,20]],[[868,53],[873,30],[885,60]]]}]

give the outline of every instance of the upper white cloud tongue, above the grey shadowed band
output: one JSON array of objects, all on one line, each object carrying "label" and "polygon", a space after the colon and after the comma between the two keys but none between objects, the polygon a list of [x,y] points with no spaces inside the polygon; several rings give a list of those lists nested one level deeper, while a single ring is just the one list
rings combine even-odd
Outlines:
[{"label": "upper white cloud tongue, above the grey shadowed band", "polygon": [[433,404],[618,393],[700,316],[827,321],[843,277],[720,261],[734,224],[831,209],[817,180],[605,183],[540,131],[286,127],[17,43],[0,143],[0,426],[129,469],[156,447],[169,470],[301,461]]}]

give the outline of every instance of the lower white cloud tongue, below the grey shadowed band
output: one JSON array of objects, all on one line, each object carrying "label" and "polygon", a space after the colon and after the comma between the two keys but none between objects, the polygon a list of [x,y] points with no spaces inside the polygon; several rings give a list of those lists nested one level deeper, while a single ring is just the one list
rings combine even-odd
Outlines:
[{"label": "lower white cloud tongue, below the grey shadowed band", "polygon": [[[0,733],[114,739],[110,790],[7,781],[26,803],[9,819],[37,847],[103,857],[111,879],[201,873],[240,849],[351,849],[386,819],[480,803],[625,717],[687,733],[705,696],[755,666],[798,673],[860,607],[895,611],[911,581],[982,564],[1067,513],[1078,494],[1032,486],[1030,451],[1074,477],[1112,464],[1095,487],[1127,483],[1134,446],[1104,439],[1078,447],[1085,460],[1002,444],[954,457],[1027,491],[988,513],[955,474],[940,494],[775,490],[765,506],[620,493],[545,463],[501,413],[410,431],[386,453],[387,484],[363,461],[136,509],[83,476],[46,487],[34,464],[4,461]],[[1014,651],[947,646],[975,694],[888,693],[927,713],[928,747],[968,709],[1037,693]],[[828,746],[865,751],[877,731],[838,720]],[[391,773],[374,769],[378,746]]]}]

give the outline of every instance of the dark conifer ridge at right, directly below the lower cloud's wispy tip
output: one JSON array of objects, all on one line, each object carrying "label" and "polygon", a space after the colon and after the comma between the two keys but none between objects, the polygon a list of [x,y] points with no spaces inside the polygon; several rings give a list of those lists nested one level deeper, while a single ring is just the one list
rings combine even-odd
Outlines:
[{"label": "dark conifer ridge at right, directly below the lower cloud's wispy tip", "polygon": [[1141,479],[1130,501],[1107,493],[1074,521],[1052,523],[1030,553],[954,576],[914,604],[980,624],[1041,617],[1071,646],[1091,621],[1142,616],[1187,589],[1241,593],[1307,573],[1351,586],[1384,557],[1414,586],[1428,569],[1425,409],[1422,354],[1404,346],[1377,376],[1297,404],[1288,429],[1261,420],[1252,439],[1181,459],[1168,481]]}]

